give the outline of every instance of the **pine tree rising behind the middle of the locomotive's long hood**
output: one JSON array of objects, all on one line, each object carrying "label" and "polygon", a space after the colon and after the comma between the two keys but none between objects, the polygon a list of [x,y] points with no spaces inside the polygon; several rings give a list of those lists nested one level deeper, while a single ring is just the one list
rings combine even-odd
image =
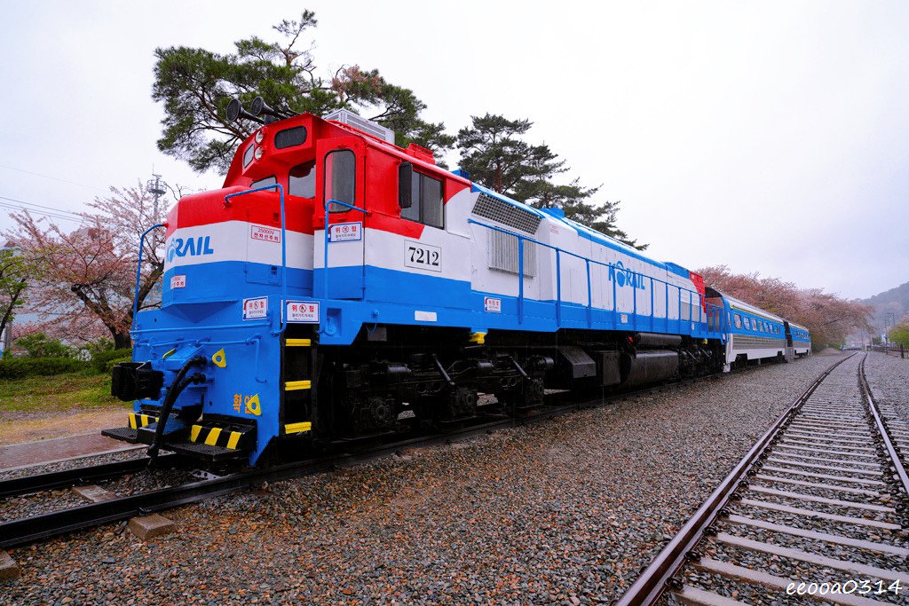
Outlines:
[{"label": "pine tree rising behind the middle of the locomotive's long hood", "polygon": [[568,172],[565,161],[546,144],[529,144],[524,135],[534,123],[508,120],[502,115],[472,116],[472,124],[457,135],[461,168],[470,178],[500,194],[535,208],[558,207],[565,216],[639,250],[627,233],[615,226],[619,202],[594,204],[599,187],[584,187],[575,178],[569,184],[555,184],[554,178]]}]

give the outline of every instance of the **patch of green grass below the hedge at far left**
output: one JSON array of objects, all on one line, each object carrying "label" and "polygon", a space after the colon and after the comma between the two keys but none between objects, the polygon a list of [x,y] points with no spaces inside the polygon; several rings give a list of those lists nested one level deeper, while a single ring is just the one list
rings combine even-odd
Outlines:
[{"label": "patch of green grass below the hedge at far left", "polygon": [[0,381],[0,412],[63,412],[111,406],[131,408],[111,394],[107,374],[65,373]]}]

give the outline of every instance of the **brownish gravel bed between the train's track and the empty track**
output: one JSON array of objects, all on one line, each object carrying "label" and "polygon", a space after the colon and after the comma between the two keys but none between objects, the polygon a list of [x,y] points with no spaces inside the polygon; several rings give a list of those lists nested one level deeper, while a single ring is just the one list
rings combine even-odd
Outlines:
[{"label": "brownish gravel bed between the train's track and the empty track", "polygon": [[839,357],[180,508],[160,540],[119,524],[18,549],[0,603],[609,602]]}]

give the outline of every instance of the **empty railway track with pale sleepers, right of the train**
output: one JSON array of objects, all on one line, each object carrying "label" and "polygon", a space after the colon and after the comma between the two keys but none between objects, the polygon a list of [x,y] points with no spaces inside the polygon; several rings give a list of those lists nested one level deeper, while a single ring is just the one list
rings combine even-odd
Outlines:
[{"label": "empty railway track with pale sleepers, right of the train", "polygon": [[909,603],[909,423],[864,353],[802,394],[617,602]]}]

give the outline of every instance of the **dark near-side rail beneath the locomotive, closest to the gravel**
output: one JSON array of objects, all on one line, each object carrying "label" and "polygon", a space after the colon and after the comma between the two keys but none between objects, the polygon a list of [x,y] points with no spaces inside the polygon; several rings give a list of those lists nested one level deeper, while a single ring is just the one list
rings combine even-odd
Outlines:
[{"label": "dark near-side rail beneath the locomotive, closest to the gravel", "polygon": [[[615,392],[614,394],[596,400],[582,402],[575,401],[562,405],[541,405],[537,412],[532,412],[523,417],[508,417],[501,420],[482,422],[454,432],[440,432],[428,436],[411,437],[403,441],[389,442],[360,452],[334,452],[315,459],[290,462],[264,469],[236,472],[211,480],[190,482],[180,486],[151,492],[142,492],[127,497],[112,499],[110,501],[89,503],[72,509],[4,522],[0,523],[0,549],[8,549],[34,541],[49,539],[67,532],[84,530],[99,524],[119,522],[137,515],[145,515],[151,512],[172,509],[180,505],[203,501],[231,492],[238,492],[261,482],[277,482],[295,477],[303,477],[315,472],[327,471],[337,466],[368,462],[394,454],[403,448],[432,446],[435,444],[452,442],[455,439],[469,438],[474,435],[492,432],[494,430],[518,427],[584,408],[601,407],[629,396],[663,391],[667,388],[683,386],[717,376],[722,376],[722,374],[716,373],[703,377],[685,378],[675,382],[646,387],[644,389]],[[546,397],[547,399],[553,399],[559,396],[564,397],[564,392],[552,393]],[[177,455],[168,455],[168,460],[170,460],[170,456]],[[141,468],[145,468],[147,465],[147,459],[145,458],[137,459],[135,461],[141,462]],[[75,478],[75,476],[79,476],[82,479],[102,479],[99,475],[89,476],[88,472],[91,472],[92,469],[93,468],[81,468],[80,470],[70,470],[69,472],[59,473],[69,473],[69,478],[67,479],[68,485],[79,483],[72,482],[72,478]],[[77,472],[82,472],[82,474],[80,475]],[[41,476],[38,477],[40,478]],[[56,483],[55,487],[67,485],[67,483],[61,481]],[[0,486],[2,486],[2,484],[0,484]]]}]

